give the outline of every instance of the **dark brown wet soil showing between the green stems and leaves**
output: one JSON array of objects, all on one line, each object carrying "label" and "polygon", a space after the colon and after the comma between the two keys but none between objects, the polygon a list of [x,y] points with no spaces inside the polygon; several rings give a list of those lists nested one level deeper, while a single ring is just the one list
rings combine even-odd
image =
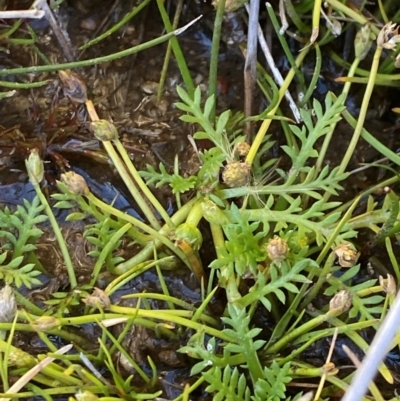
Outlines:
[{"label": "dark brown wet soil showing between the green stems and leaves", "polygon": [[[9,1],[12,9],[26,8],[27,1]],[[112,24],[119,21],[132,7],[135,1],[122,1],[110,13],[114,1],[102,2],[92,0],[66,1],[58,12],[59,22],[68,32],[73,48],[77,49],[82,44],[95,36],[103,21],[106,23],[101,28],[104,31]],[[173,15],[175,2],[169,2],[170,15]],[[179,40],[182,45],[186,60],[188,61],[192,76],[196,84],[200,85],[206,93],[207,76],[210,59],[212,25],[214,11],[211,4],[204,2],[187,1],[183,9],[181,24],[184,24],[199,14],[204,17]],[[163,26],[157,7],[151,3],[141,14],[141,18],[133,19],[111,37],[89,48],[77,57],[89,59],[104,54],[110,54],[126,49],[140,42],[160,36]],[[264,17],[261,17],[264,23]],[[3,22],[4,29],[6,22]],[[64,62],[64,56],[47,23],[35,21],[30,24],[38,35],[37,47],[46,57],[54,63]],[[244,59],[239,44],[246,40],[246,25],[243,15],[238,12],[229,16],[224,24],[223,43],[221,46],[219,64],[219,92],[218,108],[227,108],[233,111],[243,109],[243,68]],[[26,27],[21,28],[21,35],[26,34]],[[323,101],[328,91],[336,94],[341,91],[341,84],[336,83],[335,78],[346,75],[346,71],[334,63],[329,57],[331,51],[338,54],[348,54],[351,60],[349,42],[352,43],[353,34],[343,35],[332,46],[323,48],[323,67],[315,90],[315,96]],[[270,38],[274,58],[283,75],[289,66],[287,60],[274,37]],[[13,68],[16,66],[28,66],[40,63],[37,54],[29,47],[21,47],[3,44],[9,48],[9,54],[0,52],[0,68]],[[297,42],[292,41],[293,52],[300,49]],[[174,106],[177,101],[175,88],[182,85],[179,70],[172,61],[166,81],[164,95],[160,103],[157,103],[155,95],[157,82],[163,64],[166,45],[159,45],[144,52],[119,59],[113,62],[94,67],[83,68],[79,72],[83,75],[88,88],[89,97],[96,105],[101,118],[113,121],[119,129],[120,137],[129,151],[129,154],[138,169],[144,169],[146,164],[153,166],[160,162],[171,169],[174,158],[179,158],[182,171],[189,172],[193,167],[192,161],[195,154],[187,140],[187,136],[193,133],[193,128],[179,120],[180,112]],[[346,57],[344,57],[346,58]],[[370,60],[364,61],[365,66],[370,65]],[[311,79],[315,65],[312,54],[306,58],[303,69],[305,76]],[[363,66],[361,66],[363,67]],[[7,76],[7,80],[13,82],[29,81],[31,77]],[[35,77],[36,79],[36,77]],[[39,148],[42,158],[46,161],[46,187],[49,193],[56,191],[55,181],[60,174],[67,170],[74,170],[83,175],[91,191],[107,203],[114,202],[114,206],[135,217],[143,219],[137,211],[135,201],[132,199],[117,173],[111,166],[105,151],[88,130],[88,116],[83,107],[71,103],[64,96],[57,75],[54,73],[41,74],[40,80],[49,79],[50,83],[39,89],[20,90],[9,99],[2,100],[0,112],[2,115],[0,128],[0,202],[2,205],[15,207],[22,203],[23,199],[32,200],[35,192],[28,182],[25,173],[24,160],[33,147]],[[291,88],[293,97],[296,98],[298,88]],[[364,87],[353,85],[347,107],[353,115],[357,115],[360,108]],[[393,150],[400,148],[400,139],[397,129],[394,128],[397,121],[390,110],[396,104],[396,89],[379,88],[373,97],[374,104],[370,108],[366,128],[382,143]],[[255,98],[254,110],[261,111],[266,103],[258,93]],[[285,107],[285,106],[283,106]],[[290,113],[290,111],[288,111]],[[284,135],[278,123],[271,127],[275,146],[265,157],[282,157],[281,168],[287,166],[280,146],[283,145]],[[341,122],[335,132],[334,143],[325,159],[325,163],[334,166],[341,155],[347,149],[352,129],[345,122]],[[199,143],[199,147],[207,144]],[[361,141],[350,169],[359,167],[360,163],[369,163],[379,158],[379,154],[368,144]],[[290,167],[290,166],[288,166]],[[384,169],[369,169],[355,174],[346,182],[346,191],[340,200],[346,201],[353,198],[362,189],[373,185],[385,178],[387,171]],[[174,210],[174,197],[168,190],[159,190],[158,198],[164,203],[170,212]],[[378,199],[379,200],[379,199]],[[363,207],[363,206],[360,206]],[[80,283],[87,282],[93,260],[87,256],[89,245],[82,237],[84,225],[65,222],[66,212],[56,211],[57,218],[63,227],[70,249],[74,251],[74,263],[79,268]],[[38,257],[49,272],[49,276],[41,277],[43,286],[27,292],[31,300],[40,307],[45,307],[44,301],[51,298],[53,292],[67,287],[65,266],[62,263],[56,241],[49,227],[43,228],[45,235],[39,243]],[[207,233],[205,232],[205,236]],[[360,238],[360,247],[369,238]],[[386,254],[386,253],[385,253]],[[212,258],[209,252],[203,253],[205,265]],[[374,250],[374,256],[383,258],[383,252],[379,247]],[[383,260],[383,259],[382,259]],[[190,304],[200,302],[200,293],[197,283],[187,270],[165,273],[165,278],[171,295],[178,295]],[[104,284],[108,278],[104,277]],[[101,283],[100,283],[101,285]],[[113,301],[121,301],[121,296],[135,292],[161,292],[155,271],[149,271],[140,278],[130,282],[121,291],[114,294]],[[221,313],[225,300],[217,295],[213,301],[216,314]],[[157,304],[158,308],[165,305]],[[259,314],[256,318],[259,327],[265,327],[264,335],[272,330],[273,319],[265,314]],[[115,334],[118,333],[116,329]],[[190,364],[176,350],[185,344],[186,337],[180,340],[165,343],[154,337],[146,329],[135,326],[127,336],[123,344],[130,350],[131,355],[143,367],[149,368],[146,355],[152,358],[161,367],[161,388],[164,397],[172,399],[181,392],[181,384],[189,379]],[[134,331],[136,330],[136,331]],[[189,335],[190,333],[187,333]],[[85,337],[90,341],[98,335],[96,329],[87,327]],[[55,342],[61,341],[54,339]],[[343,340],[345,341],[345,340]],[[27,349],[33,354],[45,351],[44,345],[34,334],[21,336],[17,339],[17,345]],[[61,344],[60,344],[61,345]],[[324,363],[325,353],[329,349],[329,343],[323,341],[311,347],[304,354],[305,360],[320,366]],[[341,360],[338,364],[346,365],[348,362]],[[399,367],[398,355],[393,355],[394,371]],[[124,365],[122,359],[118,360],[118,366],[125,375],[132,372]],[[199,392],[199,399],[204,399],[204,394]]]}]

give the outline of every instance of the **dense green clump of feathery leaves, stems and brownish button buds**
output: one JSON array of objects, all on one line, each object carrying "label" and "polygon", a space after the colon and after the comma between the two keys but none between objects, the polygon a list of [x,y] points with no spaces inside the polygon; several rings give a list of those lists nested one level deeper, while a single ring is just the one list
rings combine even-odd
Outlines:
[{"label": "dense green clump of feathery leaves, stems and brownish button buds", "polygon": [[[224,2],[215,3],[214,35],[217,35]],[[227,3],[230,3],[227,9],[234,10],[243,2]],[[328,92],[321,102],[313,99],[321,70],[320,47],[334,39],[339,16],[355,18],[349,7],[328,0],[335,13],[326,16],[330,24],[320,30],[316,16],[320,15],[321,5],[317,3],[286,4],[290,6],[287,11],[291,23],[299,34],[308,35],[310,42],[294,60],[285,37],[280,37],[291,70],[278,89],[269,74],[259,67],[259,87],[269,105],[259,116],[245,118],[242,113],[233,114],[229,110],[218,114],[213,74],[206,99],[201,88],[194,87],[179,43],[171,33],[163,2],[157,1],[168,31],[162,40],[172,38],[171,47],[186,87],[177,87],[180,118],[196,131],[194,141],[206,140],[211,144],[207,150],[197,151],[199,168],[190,176],[180,170],[179,163],[173,170],[160,163],[138,172],[118,138],[117,128],[109,121],[99,120],[87,98],[83,80],[75,73],[62,73],[69,96],[85,104],[95,137],[102,142],[147,222],[104,203],[90,191],[83,177],[72,171],[62,174],[57,183],[59,192],[52,195],[53,206],[69,210],[68,221],[84,221],[83,237],[93,246],[90,256],[95,262],[91,277],[79,283],[65,239],[40,189],[43,162],[37,151],[31,152],[33,162],[30,163],[30,158],[27,168],[38,197],[32,203],[25,200],[15,211],[0,210],[0,279],[17,289],[40,284],[37,276],[43,269],[35,258],[35,244],[43,234],[38,225],[49,219],[65,258],[70,288],[53,293],[53,299],[44,303],[45,310],[17,289],[12,294],[6,287],[6,296],[1,293],[0,305],[11,301],[14,305],[15,296],[24,307],[21,313],[13,311],[4,320],[0,313],[0,334],[10,333],[7,341],[0,339],[0,376],[5,393],[10,390],[11,375],[22,376],[43,359],[12,345],[13,335],[20,330],[35,331],[52,359],[46,360],[48,366],[32,377],[19,398],[39,395],[52,399],[57,387],[59,395],[74,394],[76,400],[157,399],[162,395],[159,367],[150,357],[145,362],[135,360],[124,345],[132,333],[139,333],[134,336],[140,339],[142,328],[154,337],[179,343],[178,352],[187,358],[192,384],[182,389],[177,400],[195,396],[199,387],[214,400],[303,400],[304,391],[297,391],[297,387],[289,384],[309,379],[320,381],[315,399],[329,400],[338,391],[345,391],[352,374],[339,376],[340,367],[329,358],[323,366],[313,366],[305,362],[302,353],[337,332],[366,352],[369,345],[361,335],[362,330],[378,330],[394,300],[400,270],[390,238],[400,229],[398,196],[386,188],[384,200],[378,203],[372,195],[374,188],[370,188],[345,204],[340,199],[350,175],[349,158],[360,137],[400,164],[397,155],[363,129],[374,84],[378,80],[381,84],[391,80],[387,75],[391,71],[388,65],[384,66],[386,75],[382,71],[378,75],[376,60],[384,49],[395,48],[398,35],[387,24],[378,36],[370,75],[367,81],[362,81],[368,85],[360,116],[354,123],[346,110],[351,79],[379,30],[356,13],[355,22],[367,24],[369,29],[360,30],[366,35],[361,38],[361,50],[360,35],[356,37],[355,61],[348,79],[344,80],[345,87],[339,96]],[[313,7],[309,26],[300,17]],[[267,11],[278,32],[280,27],[270,5]],[[383,17],[385,13],[381,13]],[[318,37],[321,40],[317,44]],[[92,44],[86,44],[85,48]],[[311,49],[316,53],[316,68],[307,87],[299,65]],[[212,52],[214,63],[218,47],[214,45]],[[303,92],[302,101],[296,105],[299,124],[294,124],[279,109],[294,77]],[[81,96],[73,96],[73,91]],[[342,118],[354,125],[354,135],[343,158],[330,167],[324,163],[326,150],[332,146],[335,128]],[[281,150],[286,167],[268,152],[274,146],[274,136],[269,132],[272,120],[278,121],[285,133]],[[244,134],[249,121],[260,121],[252,141],[247,141]],[[394,175],[379,186],[391,185],[398,179]],[[166,186],[176,197],[177,210],[171,216],[149,189]],[[331,200],[331,197],[336,198]],[[357,208],[362,197],[363,206]],[[375,277],[364,281],[359,278],[357,236],[367,230],[372,233],[372,245],[385,245],[393,265],[394,274],[380,277],[379,282]],[[208,242],[204,240],[206,233]],[[125,247],[134,251],[121,256],[119,252]],[[200,256],[206,247],[215,254],[209,265],[204,265]],[[164,269],[182,266],[197,279],[200,305],[190,305],[170,295]],[[117,291],[150,269],[156,271],[162,293],[125,295],[124,299],[135,302],[135,306],[120,305]],[[111,278],[104,284],[103,276]],[[224,303],[221,316],[215,316],[210,307],[217,290]],[[263,326],[262,319],[257,319],[259,315],[271,321],[269,329]],[[114,332],[110,327],[116,324],[123,328]],[[96,344],[75,330],[76,326],[85,325],[99,328],[101,335]],[[52,336],[73,343],[82,352],[68,353],[71,346],[57,351]],[[68,354],[61,356],[62,353]],[[129,367],[128,374],[121,374],[116,360],[124,361],[124,366]],[[388,383],[393,383],[393,375],[385,364],[379,371]],[[77,392],[77,388],[81,390]],[[379,392],[374,396],[381,397]]]}]

